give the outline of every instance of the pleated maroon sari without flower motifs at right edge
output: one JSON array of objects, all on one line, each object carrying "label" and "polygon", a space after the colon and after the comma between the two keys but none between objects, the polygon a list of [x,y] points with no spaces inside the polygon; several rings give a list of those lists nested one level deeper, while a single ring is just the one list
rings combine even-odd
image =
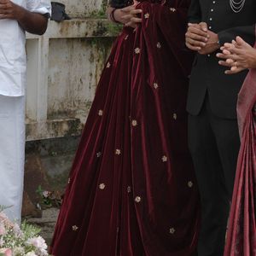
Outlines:
[{"label": "pleated maroon sari without flower motifs at right edge", "polygon": [[[256,46],[256,45],[255,45]],[[254,47],[256,49],[256,47]],[[256,255],[256,69],[238,97],[241,149],[224,256]]]}]

